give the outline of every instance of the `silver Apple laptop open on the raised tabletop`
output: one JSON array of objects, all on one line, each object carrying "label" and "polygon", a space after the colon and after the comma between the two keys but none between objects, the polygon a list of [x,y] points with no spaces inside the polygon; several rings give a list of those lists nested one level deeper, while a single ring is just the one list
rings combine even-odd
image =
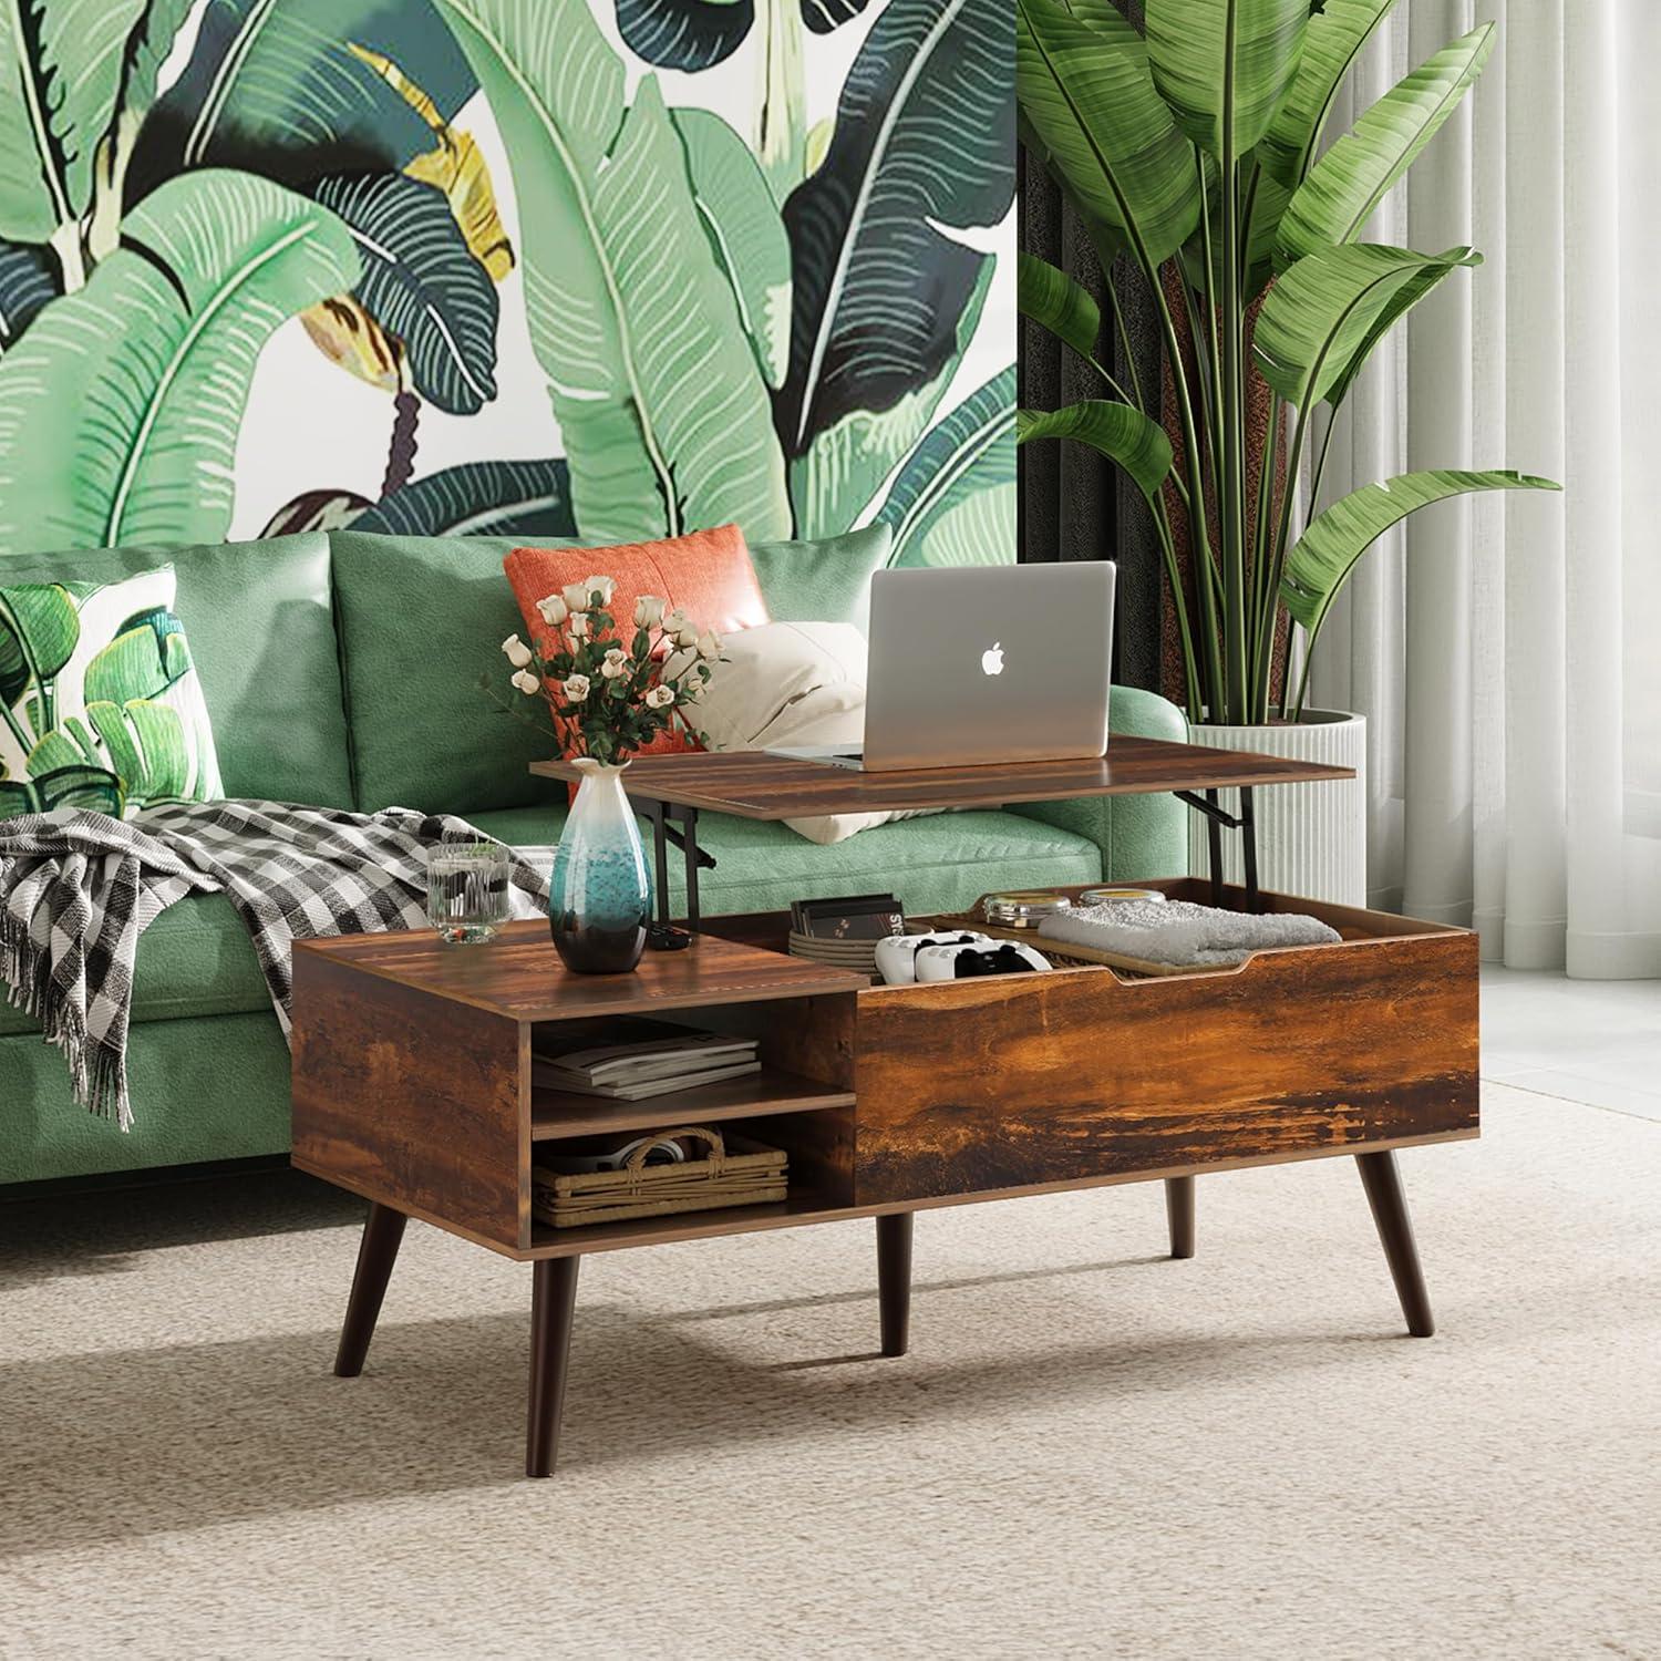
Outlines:
[{"label": "silver Apple laptop open on the raised tabletop", "polygon": [[1116,576],[1106,560],[877,571],[864,749],[777,754],[870,772],[1105,754]]}]

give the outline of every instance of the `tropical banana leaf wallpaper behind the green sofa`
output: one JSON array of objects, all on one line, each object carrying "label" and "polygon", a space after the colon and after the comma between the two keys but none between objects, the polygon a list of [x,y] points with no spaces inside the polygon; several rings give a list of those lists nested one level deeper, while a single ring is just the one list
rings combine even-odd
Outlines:
[{"label": "tropical banana leaf wallpaper behind the green sofa", "polygon": [[0,553],[1015,556],[1005,0],[0,0]]}]

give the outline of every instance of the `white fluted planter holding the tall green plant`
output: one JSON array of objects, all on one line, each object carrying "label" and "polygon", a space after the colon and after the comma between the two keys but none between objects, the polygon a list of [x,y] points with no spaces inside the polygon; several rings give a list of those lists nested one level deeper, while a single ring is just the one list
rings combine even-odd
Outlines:
[{"label": "white fluted planter holding the tall green plant", "polygon": [[[1211,749],[1254,749],[1291,761],[1354,767],[1354,779],[1319,784],[1269,784],[1256,791],[1257,882],[1279,894],[1304,894],[1337,905],[1367,904],[1367,719],[1337,709],[1307,709],[1289,726],[1196,726],[1191,742]],[[1231,814],[1239,791],[1219,791]],[[1222,869],[1242,882],[1237,830],[1222,834]],[[1206,821],[1189,814],[1188,869],[1209,875]]]}]

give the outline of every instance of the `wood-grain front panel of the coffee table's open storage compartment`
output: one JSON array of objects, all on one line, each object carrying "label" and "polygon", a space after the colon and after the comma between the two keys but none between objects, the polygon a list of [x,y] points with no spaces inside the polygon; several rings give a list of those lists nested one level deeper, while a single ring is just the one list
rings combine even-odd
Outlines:
[{"label": "wood-grain front panel of the coffee table's open storage compartment", "polygon": [[855,1203],[1468,1134],[1477,940],[860,995]]}]

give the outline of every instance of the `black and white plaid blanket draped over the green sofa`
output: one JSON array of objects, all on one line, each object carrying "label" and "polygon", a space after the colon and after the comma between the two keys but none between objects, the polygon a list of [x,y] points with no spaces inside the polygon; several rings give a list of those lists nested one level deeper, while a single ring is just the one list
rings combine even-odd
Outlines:
[{"label": "black and white plaid blanket draped over the green sofa", "polygon": [[[140,935],[188,894],[224,894],[289,1030],[296,940],[427,922],[427,849],[480,840],[463,819],[389,807],[352,814],[287,802],[153,807],[136,819],[58,809],[0,821],[0,980],[63,1050],[75,1096],[133,1123],[126,1028]],[[546,905],[525,860],[513,912]]]}]

